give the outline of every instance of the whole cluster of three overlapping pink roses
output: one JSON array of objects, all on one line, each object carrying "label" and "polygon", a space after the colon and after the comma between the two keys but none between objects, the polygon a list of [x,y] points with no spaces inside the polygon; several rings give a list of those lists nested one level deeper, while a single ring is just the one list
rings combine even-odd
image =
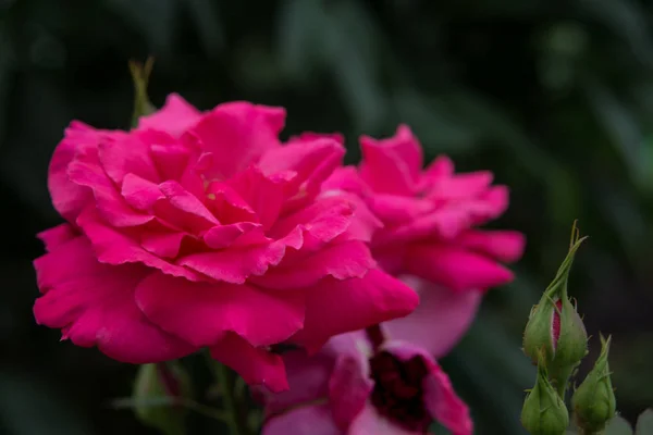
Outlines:
[{"label": "whole cluster of three overlapping pink roses", "polygon": [[513,279],[522,235],[479,229],[507,188],[445,157],[422,169],[407,126],[344,166],[340,135],[284,142],[284,122],[176,95],[130,132],[73,122],[49,167],[65,223],[39,234],[37,322],[128,363],[206,348],[255,386],[268,435],[471,434],[436,360]]}]

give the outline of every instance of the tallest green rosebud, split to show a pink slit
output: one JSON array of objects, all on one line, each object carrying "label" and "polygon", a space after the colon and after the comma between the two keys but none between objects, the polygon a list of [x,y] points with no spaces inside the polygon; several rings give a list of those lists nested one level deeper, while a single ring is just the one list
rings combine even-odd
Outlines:
[{"label": "tallest green rosebud, split to show a pink slit", "polygon": [[555,279],[529,315],[523,332],[523,351],[533,362],[543,352],[544,364],[564,393],[567,377],[588,353],[588,334],[577,308],[567,296],[574,256],[584,240],[574,226],[571,246]]}]

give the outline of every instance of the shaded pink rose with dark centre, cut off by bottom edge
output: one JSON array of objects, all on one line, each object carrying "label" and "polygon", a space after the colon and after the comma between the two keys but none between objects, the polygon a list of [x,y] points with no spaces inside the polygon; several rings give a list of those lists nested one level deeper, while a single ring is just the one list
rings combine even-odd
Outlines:
[{"label": "shaded pink rose with dark centre, cut off by bottom edge", "polygon": [[471,435],[467,406],[429,349],[377,328],[333,337],[320,353],[284,356],[291,389],[260,391],[263,435],[403,435],[433,420]]}]

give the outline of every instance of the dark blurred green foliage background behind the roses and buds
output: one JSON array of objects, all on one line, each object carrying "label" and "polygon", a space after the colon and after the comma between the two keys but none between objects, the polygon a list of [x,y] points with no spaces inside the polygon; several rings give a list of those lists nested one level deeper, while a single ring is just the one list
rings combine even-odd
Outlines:
[{"label": "dark blurred green foliage background behind the roses and buds", "polygon": [[523,433],[521,331],[578,217],[590,240],[570,293],[594,349],[614,335],[632,421],[653,405],[651,13],[643,0],[0,0],[0,434],[150,433],[109,407],[134,366],[35,325],[30,263],[35,233],[61,222],[46,175],[63,128],[128,127],[127,61],[148,54],[156,104],[176,91],[201,109],[284,105],[287,135],[343,130],[352,162],[358,135],[405,122],[429,159],[510,186],[496,226],[528,236],[518,278],[443,360],[478,434]]}]

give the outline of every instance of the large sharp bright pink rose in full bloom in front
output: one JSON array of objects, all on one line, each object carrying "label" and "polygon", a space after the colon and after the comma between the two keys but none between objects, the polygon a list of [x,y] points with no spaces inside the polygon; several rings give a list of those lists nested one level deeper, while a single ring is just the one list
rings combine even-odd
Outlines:
[{"label": "large sharp bright pink rose in full bloom in front", "polygon": [[342,145],[282,144],[284,120],[248,102],[201,113],[172,95],[131,132],[73,122],[49,169],[67,222],[39,235],[37,322],[131,363],[207,347],[280,390],[274,345],[317,351],[409,313],[417,295],[367,247],[380,223],[323,186]]}]

